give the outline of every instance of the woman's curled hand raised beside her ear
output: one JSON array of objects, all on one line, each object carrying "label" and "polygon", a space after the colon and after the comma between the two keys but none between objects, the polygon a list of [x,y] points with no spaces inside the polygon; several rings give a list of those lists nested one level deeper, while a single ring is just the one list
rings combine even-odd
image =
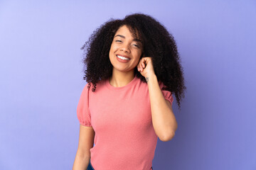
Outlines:
[{"label": "woman's curled hand raised beside her ear", "polygon": [[145,78],[155,74],[151,57],[142,57],[142,59],[139,60],[137,69]]}]

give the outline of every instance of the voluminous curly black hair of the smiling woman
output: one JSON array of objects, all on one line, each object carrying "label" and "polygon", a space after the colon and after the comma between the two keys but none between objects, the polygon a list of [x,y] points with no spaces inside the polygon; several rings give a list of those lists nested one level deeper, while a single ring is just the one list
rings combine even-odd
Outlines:
[{"label": "voluminous curly black hair of the smiling woman", "polygon": [[[176,42],[164,26],[155,18],[143,13],[134,13],[123,20],[113,19],[97,28],[89,40],[81,47],[84,50],[83,62],[86,66],[85,76],[87,82],[93,84],[95,91],[97,82],[112,77],[112,64],[109,52],[115,33],[121,26],[127,26],[131,33],[142,40],[142,56],[150,56],[154,65],[154,72],[158,81],[162,81],[166,87],[163,90],[175,94],[178,109],[181,108],[181,98],[184,98],[183,69]],[[134,74],[141,81],[146,79],[134,68]]]}]

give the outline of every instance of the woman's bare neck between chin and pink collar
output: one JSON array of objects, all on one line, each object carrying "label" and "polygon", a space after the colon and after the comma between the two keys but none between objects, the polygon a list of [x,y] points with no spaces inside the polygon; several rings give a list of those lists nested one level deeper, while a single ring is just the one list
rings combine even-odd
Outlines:
[{"label": "woman's bare neck between chin and pink collar", "polygon": [[114,87],[126,86],[134,79],[134,72],[112,72],[110,84]]}]

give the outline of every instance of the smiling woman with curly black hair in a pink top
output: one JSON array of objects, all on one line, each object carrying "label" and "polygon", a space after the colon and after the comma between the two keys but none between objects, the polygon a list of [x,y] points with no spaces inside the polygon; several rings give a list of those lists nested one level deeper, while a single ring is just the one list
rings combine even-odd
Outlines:
[{"label": "smiling woman with curly black hair in a pink top", "polygon": [[173,36],[135,13],[104,23],[82,49],[88,83],[73,169],[153,169],[157,137],[169,141],[177,129],[172,93],[180,108],[186,89]]}]

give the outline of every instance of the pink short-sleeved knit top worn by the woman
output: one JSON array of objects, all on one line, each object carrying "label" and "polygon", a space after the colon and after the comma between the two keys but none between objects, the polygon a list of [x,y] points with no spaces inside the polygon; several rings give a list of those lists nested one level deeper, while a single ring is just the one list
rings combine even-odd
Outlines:
[{"label": "pink short-sleeved knit top worn by the woman", "polygon": [[[149,170],[154,159],[157,136],[151,119],[148,85],[134,77],[126,86],[114,87],[109,80],[85,85],[78,102],[81,125],[95,130],[90,162],[96,170]],[[162,89],[164,84],[159,81]],[[171,102],[170,91],[161,90]],[[89,100],[88,100],[89,98]]]}]

